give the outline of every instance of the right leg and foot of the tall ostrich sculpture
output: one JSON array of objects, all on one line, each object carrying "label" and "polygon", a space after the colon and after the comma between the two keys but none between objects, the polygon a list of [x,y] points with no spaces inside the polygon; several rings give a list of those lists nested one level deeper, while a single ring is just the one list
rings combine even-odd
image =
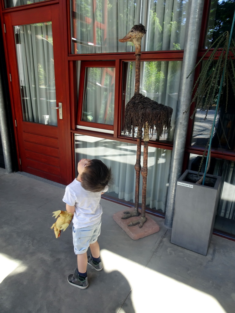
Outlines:
[{"label": "right leg and foot of the tall ostrich sculpture", "polygon": [[144,127],[144,159],[143,159],[143,167],[141,169],[141,175],[143,177],[143,186],[142,186],[142,213],[141,218],[132,221],[128,226],[135,226],[139,224],[139,228],[142,228],[144,223],[147,221],[145,217],[146,210],[146,187],[147,187],[147,175],[148,175],[148,149],[149,149],[149,125],[146,122]]}]

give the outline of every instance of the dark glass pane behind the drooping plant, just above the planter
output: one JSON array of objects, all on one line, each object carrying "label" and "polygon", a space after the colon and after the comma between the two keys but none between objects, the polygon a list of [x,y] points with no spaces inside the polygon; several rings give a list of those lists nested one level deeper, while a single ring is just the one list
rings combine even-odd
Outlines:
[{"label": "dark glass pane behind the drooping plant, just above the planter", "polygon": [[[207,70],[206,79],[208,81],[212,80],[210,75],[215,74],[217,71],[214,65],[215,63]],[[202,63],[202,67],[204,67],[204,62]],[[196,110],[194,117],[193,133],[191,137],[191,145],[202,148],[205,148],[209,144],[219,91],[219,84],[217,84],[217,90],[214,95],[210,90],[208,91],[208,87],[205,84],[202,85],[200,96],[196,99],[196,104],[199,105],[199,108]],[[202,107],[206,97],[210,100],[209,108]],[[235,124],[234,101],[234,90],[231,81],[227,81],[226,79],[226,84],[222,87],[219,109],[213,129],[212,149],[223,151],[234,151],[235,149],[235,128],[233,127]]]}]

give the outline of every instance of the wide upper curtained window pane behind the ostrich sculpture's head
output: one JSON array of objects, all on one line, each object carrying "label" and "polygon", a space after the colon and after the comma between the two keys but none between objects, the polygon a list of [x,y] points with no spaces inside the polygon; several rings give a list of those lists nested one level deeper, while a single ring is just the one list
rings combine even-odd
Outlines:
[{"label": "wide upper curtained window pane behind the ostrich sculpture's head", "polygon": [[147,29],[143,51],[184,49],[189,0],[70,0],[72,53],[130,52],[120,43],[135,24]]}]

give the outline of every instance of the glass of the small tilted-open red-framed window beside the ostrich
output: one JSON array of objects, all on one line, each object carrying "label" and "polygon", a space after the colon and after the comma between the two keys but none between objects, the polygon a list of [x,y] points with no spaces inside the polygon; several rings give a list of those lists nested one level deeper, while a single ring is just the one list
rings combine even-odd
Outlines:
[{"label": "glass of the small tilted-open red-framed window beside the ostrich", "polygon": [[86,68],[82,121],[113,125],[115,68]]}]

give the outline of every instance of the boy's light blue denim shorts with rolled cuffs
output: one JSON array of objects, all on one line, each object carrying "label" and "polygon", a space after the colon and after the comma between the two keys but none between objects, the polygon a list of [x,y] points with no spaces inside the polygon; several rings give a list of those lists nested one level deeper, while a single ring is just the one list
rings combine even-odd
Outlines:
[{"label": "boy's light blue denim shorts with rolled cuffs", "polygon": [[73,246],[75,254],[83,254],[87,251],[90,244],[94,244],[100,235],[101,220],[96,224],[74,228],[73,226]]}]

